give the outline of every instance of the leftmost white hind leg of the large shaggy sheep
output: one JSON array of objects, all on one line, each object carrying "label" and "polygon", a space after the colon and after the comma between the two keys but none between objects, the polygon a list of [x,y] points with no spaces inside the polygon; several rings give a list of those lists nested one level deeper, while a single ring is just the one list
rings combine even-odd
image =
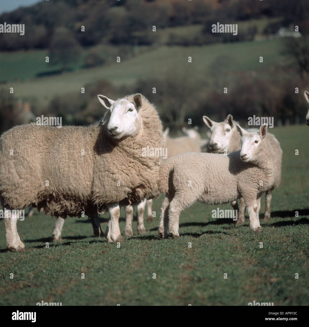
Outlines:
[{"label": "leftmost white hind leg of the large shaggy sheep", "polygon": [[19,215],[17,213],[11,212],[10,209],[4,210],[4,226],[5,226],[5,236],[7,240],[7,248],[11,251],[24,251],[26,247],[24,243],[20,240],[17,233],[17,219]]}]

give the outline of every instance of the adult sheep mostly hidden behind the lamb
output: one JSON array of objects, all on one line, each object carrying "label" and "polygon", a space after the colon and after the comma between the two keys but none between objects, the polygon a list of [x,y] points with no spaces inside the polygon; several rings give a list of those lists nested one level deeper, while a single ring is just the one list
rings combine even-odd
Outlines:
[{"label": "adult sheep mostly hidden behind the lamb", "polygon": [[[209,141],[209,152],[212,153],[231,153],[237,150],[240,150],[240,135],[236,129],[236,123],[233,121],[233,116],[229,114],[226,119],[221,123],[216,123],[209,119],[207,116],[203,116],[204,123],[210,128],[211,138]],[[247,129],[249,132],[257,132],[258,129]],[[266,199],[266,208],[264,219],[265,221],[270,219],[270,202],[272,191],[275,187],[277,187],[280,183],[281,179],[281,162],[282,162],[282,149],[280,147],[280,143],[276,139],[273,134],[267,133],[266,140],[272,148],[272,151],[275,156],[275,180],[274,184],[271,186],[269,190],[266,191],[265,199]],[[238,209],[237,201],[232,202],[232,206],[234,210]],[[238,219],[235,222],[236,225],[241,225],[245,222],[245,209],[246,206],[244,204],[243,199],[239,201],[239,212]]]}]

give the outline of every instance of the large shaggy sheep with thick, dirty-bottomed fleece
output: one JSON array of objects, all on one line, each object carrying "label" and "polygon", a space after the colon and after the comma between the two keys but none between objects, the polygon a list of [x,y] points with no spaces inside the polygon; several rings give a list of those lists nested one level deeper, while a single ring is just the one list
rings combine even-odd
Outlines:
[{"label": "large shaggy sheep with thick, dirty-bottomed fleece", "polygon": [[32,205],[62,219],[108,209],[105,237],[123,242],[120,207],[156,194],[160,155],[143,156],[147,146],[163,147],[155,107],[141,94],[116,101],[104,95],[98,99],[107,112],[96,124],[61,128],[28,124],[2,134],[0,200],[6,208],[9,250],[25,249],[11,209]]}]

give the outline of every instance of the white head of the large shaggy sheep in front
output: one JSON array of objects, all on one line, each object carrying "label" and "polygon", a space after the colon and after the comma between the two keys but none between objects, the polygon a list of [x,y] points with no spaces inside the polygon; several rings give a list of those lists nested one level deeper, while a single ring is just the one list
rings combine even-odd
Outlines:
[{"label": "white head of the large shaggy sheep in front", "polygon": [[[113,101],[104,95],[98,95],[102,105],[110,111],[107,131],[117,140],[137,135],[141,129],[139,110],[142,107],[142,95],[135,94],[133,101],[118,99]],[[104,121],[107,123],[107,121]]]}]

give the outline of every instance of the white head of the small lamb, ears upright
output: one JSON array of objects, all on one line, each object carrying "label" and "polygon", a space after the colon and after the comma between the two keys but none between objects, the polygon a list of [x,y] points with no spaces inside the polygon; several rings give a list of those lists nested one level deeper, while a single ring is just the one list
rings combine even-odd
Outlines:
[{"label": "white head of the small lamb, ears upright", "polygon": [[255,162],[262,150],[262,144],[267,133],[267,124],[262,125],[257,133],[249,133],[239,125],[236,125],[236,128],[241,136],[240,159],[245,163]]}]

